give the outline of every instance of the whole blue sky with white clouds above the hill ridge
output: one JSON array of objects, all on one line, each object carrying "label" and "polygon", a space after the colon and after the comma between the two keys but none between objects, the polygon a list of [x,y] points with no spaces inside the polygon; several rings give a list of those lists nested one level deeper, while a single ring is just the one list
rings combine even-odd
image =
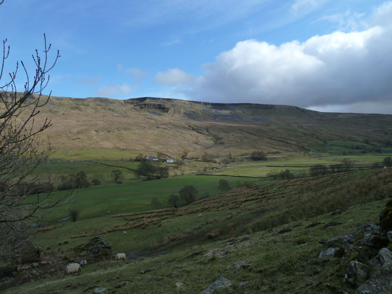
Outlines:
[{"label": "whole blue sky with white clouds above the hill ridge", "polygon": [[53,96],[392,114],[392,0],[4,0],[4,73],[44,33]]}]

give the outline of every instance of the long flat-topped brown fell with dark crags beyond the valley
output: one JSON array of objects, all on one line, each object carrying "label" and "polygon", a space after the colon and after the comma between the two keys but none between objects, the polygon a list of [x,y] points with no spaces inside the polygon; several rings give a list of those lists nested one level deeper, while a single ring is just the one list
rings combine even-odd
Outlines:
[{"label": "long flat-topped brown fell with dark crags beyond the valley", "polygon": [[51,97],[36,117],[56,147],[118,147],[178,157],[304,151],[329,140],[383,144],[392,115],[321,113],[295,106],[170,98]]}]

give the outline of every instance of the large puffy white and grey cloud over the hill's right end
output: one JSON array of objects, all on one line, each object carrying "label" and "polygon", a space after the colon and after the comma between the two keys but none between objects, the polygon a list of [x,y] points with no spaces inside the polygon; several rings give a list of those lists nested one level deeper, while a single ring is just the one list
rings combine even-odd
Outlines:
[{"label": "large puffy white and grey cloud over the hill's right end", "polygon": [[203,65],[200,77],[171,69],[155,80],[176,84],[176,91],[193,100],[301,107],[390,102],[392,4],[382,7],[376,10],[383,15],[381,25],[280,46],[246,40]]}]

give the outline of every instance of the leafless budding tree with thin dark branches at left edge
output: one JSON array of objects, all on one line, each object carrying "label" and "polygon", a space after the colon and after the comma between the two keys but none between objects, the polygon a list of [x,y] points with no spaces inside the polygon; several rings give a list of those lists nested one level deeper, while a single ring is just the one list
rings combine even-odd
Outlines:
[{"label": "leafless budding tree with thin dark branches at left edge", "polygon": [[[37,125],[34,119],[40,108],[48,103],[49,96],[43,90],[49,82],[48,72],[54,67],[59,52],[49,63],[44,34],[45,49],[41,57],[38,50],[32,55],[35,64],[33,77],[27,73],[24,63],[16,63],[15,71],[9,73],[4,82],[3,71],[10,47],[3,41],[3,56],[0,68],[0,257],[6,260],[14,255],[31,236],[31,226],[41,222],[49,208],[62,205],[70,195],[53,196],[53,189],[40,189],[43,177],[33,171],[50,154],[42,150],[38,134],[46,130],[50,120]],[[25,75],[24,91],[17,90],[17,73]],[[19,83],[19,81],[18,81]],[[2,85],[2,86],[1,86]],[[48,181],[48,179],[45,179]]]}]

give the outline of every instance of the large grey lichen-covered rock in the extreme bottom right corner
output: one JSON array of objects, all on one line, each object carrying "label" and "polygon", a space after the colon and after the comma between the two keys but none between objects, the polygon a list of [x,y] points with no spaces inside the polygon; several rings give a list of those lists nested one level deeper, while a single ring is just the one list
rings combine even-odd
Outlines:
[{"label": "large grey lichen-covered rock in the extreme bottom right corner", "polygon": [[392,263],[373,269],[370,278],[358,287],[356,294],[391,294]]}]

